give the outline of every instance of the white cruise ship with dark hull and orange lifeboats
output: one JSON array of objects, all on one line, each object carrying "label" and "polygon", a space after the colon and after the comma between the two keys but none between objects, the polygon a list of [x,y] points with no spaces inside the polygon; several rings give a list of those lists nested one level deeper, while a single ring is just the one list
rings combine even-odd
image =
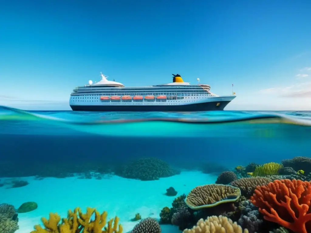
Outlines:
[{"label": "white cruise ship with dark hull and orange lifeboats", "polygon": [[210,92],[206,84],[184,82],[173,74],[173,82],[147,87],[125,87],[122,83],[101,80],[76,87],[70,95],[73,111],[213,111],[223,110],[236,96],[219,96]]}]

